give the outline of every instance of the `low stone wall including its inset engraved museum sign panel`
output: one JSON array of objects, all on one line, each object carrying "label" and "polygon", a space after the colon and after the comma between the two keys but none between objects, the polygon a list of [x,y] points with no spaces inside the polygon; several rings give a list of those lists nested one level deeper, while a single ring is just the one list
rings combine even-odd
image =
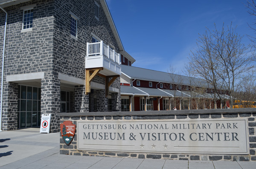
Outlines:
[{"label": "low stone wall including its inset engraved museum sign panel", "polygon": [[61,154],[177,160],[256,160],[256,109],[60,113],[76,124]]}]

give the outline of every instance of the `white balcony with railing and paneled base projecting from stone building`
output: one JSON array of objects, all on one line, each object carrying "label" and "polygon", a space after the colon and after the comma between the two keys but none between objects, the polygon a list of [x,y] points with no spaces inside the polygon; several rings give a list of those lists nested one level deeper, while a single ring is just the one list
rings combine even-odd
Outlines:
[{"label": "white balcony with railing and paneled base projecting from stone building", "polygon": [[100,73],[103,75],[121,75],[120,57],[119,53],[105,45],[103,41],[87,43],[85,69],[102,67]]}]

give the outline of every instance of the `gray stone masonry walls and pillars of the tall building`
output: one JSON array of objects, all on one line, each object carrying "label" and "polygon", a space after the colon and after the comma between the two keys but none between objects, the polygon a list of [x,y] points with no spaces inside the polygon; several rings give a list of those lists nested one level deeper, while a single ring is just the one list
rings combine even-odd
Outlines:
[{"label": "gray stone masonry walls and pillars of the tall building", "polygon": [[[94,16],[95,2],[99,4],[99,20]],[[31,31],[22,32],[22,7],[31,5],[34,6],[33,27]],[[17,129],[17,106],[15,106],[17,96],[13,94],[15,89],[8,87],[16,84],[7,83],[6,76],[44,72],[45,77],[41,80],[41,86],[37,86],[41,87],[42,92],[41,113],[52,114],[50,132],[58,132],[59,117],[56,114],[60,112],[60,86],[62,86],[58,74],[85,79],[86,43],[92,42],[92,33],[119,52],[119,46],[107,16],[99,0],[31,0],[6,7],[5,10],[8,13],[8,29],[3,77],[5,82],[3,129]],[[78,17],[77,39],[70,36],[72,13]],[[5,13],[2,10],[0,10],[0,16],[0,51],[2,51],[5,22]],[[105,80],[99,76],[94,81],[105,84]],[[119,84],[118,79],[112,86],[119,89]],[[74,102],[70,103],[70,110],[88,112],[89,99],[82,91],[84,87],[81,87],[80,92],[80,89],[75,90],[73,98],[70,98]],[[107,111],[107,109],[104,108],[101,111]]]}]

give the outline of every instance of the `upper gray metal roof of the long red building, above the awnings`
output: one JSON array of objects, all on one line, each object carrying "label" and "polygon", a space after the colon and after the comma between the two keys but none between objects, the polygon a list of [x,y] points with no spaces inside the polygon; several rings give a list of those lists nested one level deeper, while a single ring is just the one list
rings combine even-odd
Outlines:
[{"label": "upper gray metal roof of the long red building, above the awnings", "polygon": [[157,82],[182,84],[188,86],[208,87],[207,83],[204,80],[194,77],[188,77],[178,74],[160,72],[151,69],[144,69],[126,65],[121,65],[121,70],[124,74],[128,75],[133,79],[148,81],[152,80]]}]

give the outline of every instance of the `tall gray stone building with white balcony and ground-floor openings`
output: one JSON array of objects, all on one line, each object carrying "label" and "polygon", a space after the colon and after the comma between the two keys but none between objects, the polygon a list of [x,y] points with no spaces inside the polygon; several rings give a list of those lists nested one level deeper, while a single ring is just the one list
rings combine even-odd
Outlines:
[{"label": "tall gray stone building with white balcony and ground-floor openings", "polygon": [[41,114],[51,113],[50,132],[58,132],[58,112],[120,111],[121,55],[132,57],[105,0],[0,0],[0,7],[3,130],[40,126]]}]

